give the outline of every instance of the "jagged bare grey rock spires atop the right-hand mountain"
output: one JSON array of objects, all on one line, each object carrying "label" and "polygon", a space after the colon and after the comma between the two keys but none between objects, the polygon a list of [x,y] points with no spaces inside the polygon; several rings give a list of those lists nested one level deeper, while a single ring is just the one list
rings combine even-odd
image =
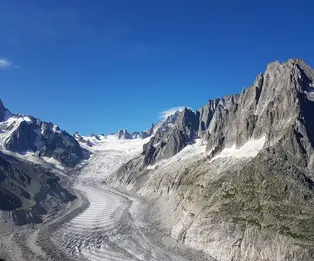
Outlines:
[{"label": "jagged bare grey rock spires atop the right-hand mountain", "polygon": [[240,94],[209,100],[195,112],[185,108],[165,137],[157,133],[145,146],[145,164],[169,158],[199,137],[214,157],[225,147],[262,136],[265,147],[280,142],[304,166],[312,164],[313,80],[313,70],[300,59],[270,63]]}]

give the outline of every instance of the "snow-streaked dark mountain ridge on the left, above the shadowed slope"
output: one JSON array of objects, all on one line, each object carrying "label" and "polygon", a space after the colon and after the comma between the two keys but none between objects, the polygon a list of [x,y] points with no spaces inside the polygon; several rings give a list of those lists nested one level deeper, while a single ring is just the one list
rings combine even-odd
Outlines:
[{"label": "snow-streaked dark mountain ridge on the left, above the shadowed slope", "polygon": [[32,116],[12,114],[0,101],[0,145],[3,150],[53,158],[74,166],[84,158],[76,139],[57,125]]}]

